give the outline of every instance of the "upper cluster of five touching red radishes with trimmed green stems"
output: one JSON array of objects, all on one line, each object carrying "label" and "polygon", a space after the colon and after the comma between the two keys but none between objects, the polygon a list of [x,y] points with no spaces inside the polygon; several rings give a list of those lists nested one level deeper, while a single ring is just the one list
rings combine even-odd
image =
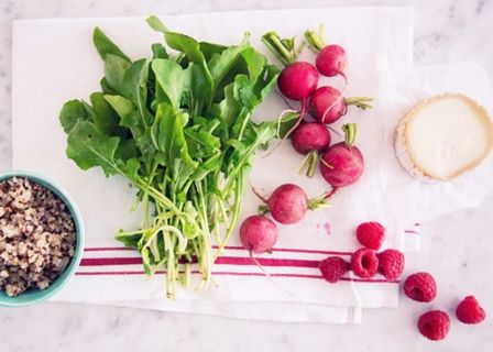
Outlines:
[{"label": "upper cluster of five touching red radishes with trimmed green stems", "polygon": [[[321,28],[319,33],[306,31],[305,38],[308,46],[317,53],[315,66],[297,61],[300,48],[296,48],[294,38],[281,38],[277,33],[269,32],[262,41],[285,65],[277,79],[281,94],[300,102],[299,120],[288,132],[296,152],[306,155],[300,173],[313,177],[320,161],[321,175],[332,186],[330,195],[333,195],[339,187],[358,180],[363,172],[364,161],[354,146],[355,124],[344,124],[342,129],[346,141],[332,146],[328,125],[341,119],[350,106],[370,109],[369,102],[372,99],[343,97],[348,85],[348,55],[343,47],[337,44],[326,45],[321,38]],[[341,76],[344,88],[341,91],[332,86],[318,87],[319,75]]]}]

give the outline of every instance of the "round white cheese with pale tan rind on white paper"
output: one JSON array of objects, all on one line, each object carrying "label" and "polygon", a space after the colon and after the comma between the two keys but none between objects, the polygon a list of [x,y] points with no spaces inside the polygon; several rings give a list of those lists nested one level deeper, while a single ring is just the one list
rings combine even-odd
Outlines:
[{"label": "round white cheese with pale tan rind on white paper", "polygon": [[401,121],[395,138],[401,164],[425,179],[449,180],[474,169],[492,145],[487,111],[461,94],[442,94],[416,106]]}]

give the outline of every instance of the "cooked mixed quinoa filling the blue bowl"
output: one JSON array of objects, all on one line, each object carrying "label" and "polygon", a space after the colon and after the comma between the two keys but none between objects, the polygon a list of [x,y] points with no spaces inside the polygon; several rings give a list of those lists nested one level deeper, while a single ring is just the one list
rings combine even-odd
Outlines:
[{"label": "cooked mixed quinoa filling the blue bowl", "polygon": [[75,242],[72,215],[51,190],[21,177],[0,183],[0,290],[45,289],[67,267]]}]

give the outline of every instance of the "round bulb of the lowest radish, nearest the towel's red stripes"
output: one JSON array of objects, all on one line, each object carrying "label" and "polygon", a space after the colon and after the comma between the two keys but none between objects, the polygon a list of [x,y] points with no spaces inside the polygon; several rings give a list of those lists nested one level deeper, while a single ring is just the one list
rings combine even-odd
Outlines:
[{"label": "round bulb of the lowest radish, nearest the towel's red stripes", "polygon": [[276,224],[264,216],[248,217],[240,227],[241,244],[250,253],[271,252],[277,235]]}]

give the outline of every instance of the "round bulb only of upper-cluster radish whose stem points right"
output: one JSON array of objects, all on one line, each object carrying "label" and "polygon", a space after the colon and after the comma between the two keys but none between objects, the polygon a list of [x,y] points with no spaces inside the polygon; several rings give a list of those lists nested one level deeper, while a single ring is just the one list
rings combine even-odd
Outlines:
[{"label": "round bulb only of upper-cluster radish whose stem points right", "polygon": [[333,123],[347,111],[341,92],[330,86],[318,88],[311,96],[310,107],[314,117],[321,123]]}]

